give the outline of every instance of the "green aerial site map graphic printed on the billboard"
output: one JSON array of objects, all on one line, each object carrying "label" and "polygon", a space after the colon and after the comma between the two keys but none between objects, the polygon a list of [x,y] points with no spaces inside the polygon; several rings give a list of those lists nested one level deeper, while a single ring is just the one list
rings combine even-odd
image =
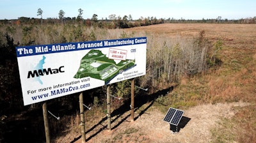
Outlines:
[{"label": "green aerial site map graphic printed on the billboard", "polygon": [[132,68],[135,65],[135,59],[126,59],[118,64],[113,59],[109,59],[100,50],[90,50],[82,59],[79,70],[74,78],[81,79],[92,77],[104,80],[105,84],[113,79],[119,73]]}]

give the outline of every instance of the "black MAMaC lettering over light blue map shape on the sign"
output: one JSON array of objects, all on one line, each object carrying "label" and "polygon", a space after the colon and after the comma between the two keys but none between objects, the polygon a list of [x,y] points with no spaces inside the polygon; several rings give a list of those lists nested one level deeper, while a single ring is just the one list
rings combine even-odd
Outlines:
[{"label": "black MAMaC lettering over light blue map shape on the sign", "polygon": [[43,68],[45,59],[46,57],[43,56],[39,63],[36,64],[35,68],[28,72],[28,79],[33,78],[35,81],[43,84],[42,80],[40,79],[41,76],[65,72],[63,70],[64,66],[60,66],[59,68]]}]

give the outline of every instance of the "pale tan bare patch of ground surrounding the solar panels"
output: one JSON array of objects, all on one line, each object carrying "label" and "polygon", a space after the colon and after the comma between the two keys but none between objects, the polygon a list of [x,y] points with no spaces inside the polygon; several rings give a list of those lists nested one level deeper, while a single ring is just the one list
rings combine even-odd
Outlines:
[{"label": "pale tan bare patch of ground surrounding the solar panels", "polygon": [[[129,122],[128,117],[126,122],[111,132],[102,130],[87,142],[210,142],[212,140],[211,129],[221,121],[221,118],[234,116],[237,112],[235,107],[246,105],[249,104],[243,102],[218,103],[198,105],[184,110],[183,116],[188,120],[183,128],[180,128],[179,133],[171,133],[170,124],[163,121],[164,114],[152,107],[152,110],[142,114],[136,121]],[[129,112],[125,114],[129,114]],[[116,120],[116,122],[118,121]],[[181,120],[180,124],[182,122]],[[61,141],[63,142],[63,139]],[[76,143],[79,142],[81,139],[76,141]]]}]

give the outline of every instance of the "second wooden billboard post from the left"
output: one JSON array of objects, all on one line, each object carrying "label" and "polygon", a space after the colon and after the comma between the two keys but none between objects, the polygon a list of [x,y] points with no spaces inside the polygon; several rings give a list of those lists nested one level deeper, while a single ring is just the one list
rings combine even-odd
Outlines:
[{"label": "second wooden billboard post from the left", "polygon": [[86,142],[85,138],[85,122],[84,122],[84,106],[83,106],[83,93],[79,94],[79,107],[80,107],[80,119],[81,119],[81,139],[82,142]]}]

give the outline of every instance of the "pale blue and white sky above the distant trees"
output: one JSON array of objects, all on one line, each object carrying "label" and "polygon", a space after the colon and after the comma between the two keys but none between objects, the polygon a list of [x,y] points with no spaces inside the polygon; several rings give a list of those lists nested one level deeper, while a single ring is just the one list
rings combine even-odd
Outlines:
[{"label": "pale blue and white sky above the distant trees", "polygon": [[18,19],[19,17],[40,18],[37,15],[41,8],[43,19],[58,18],[60,10],[64,17],[77,17],[78,10],[83,10],[83,19],[109,19],[132,16],[156,17],[157,19],[245,19],[256,17],[255,0],[0,0],[0,19]]}]

